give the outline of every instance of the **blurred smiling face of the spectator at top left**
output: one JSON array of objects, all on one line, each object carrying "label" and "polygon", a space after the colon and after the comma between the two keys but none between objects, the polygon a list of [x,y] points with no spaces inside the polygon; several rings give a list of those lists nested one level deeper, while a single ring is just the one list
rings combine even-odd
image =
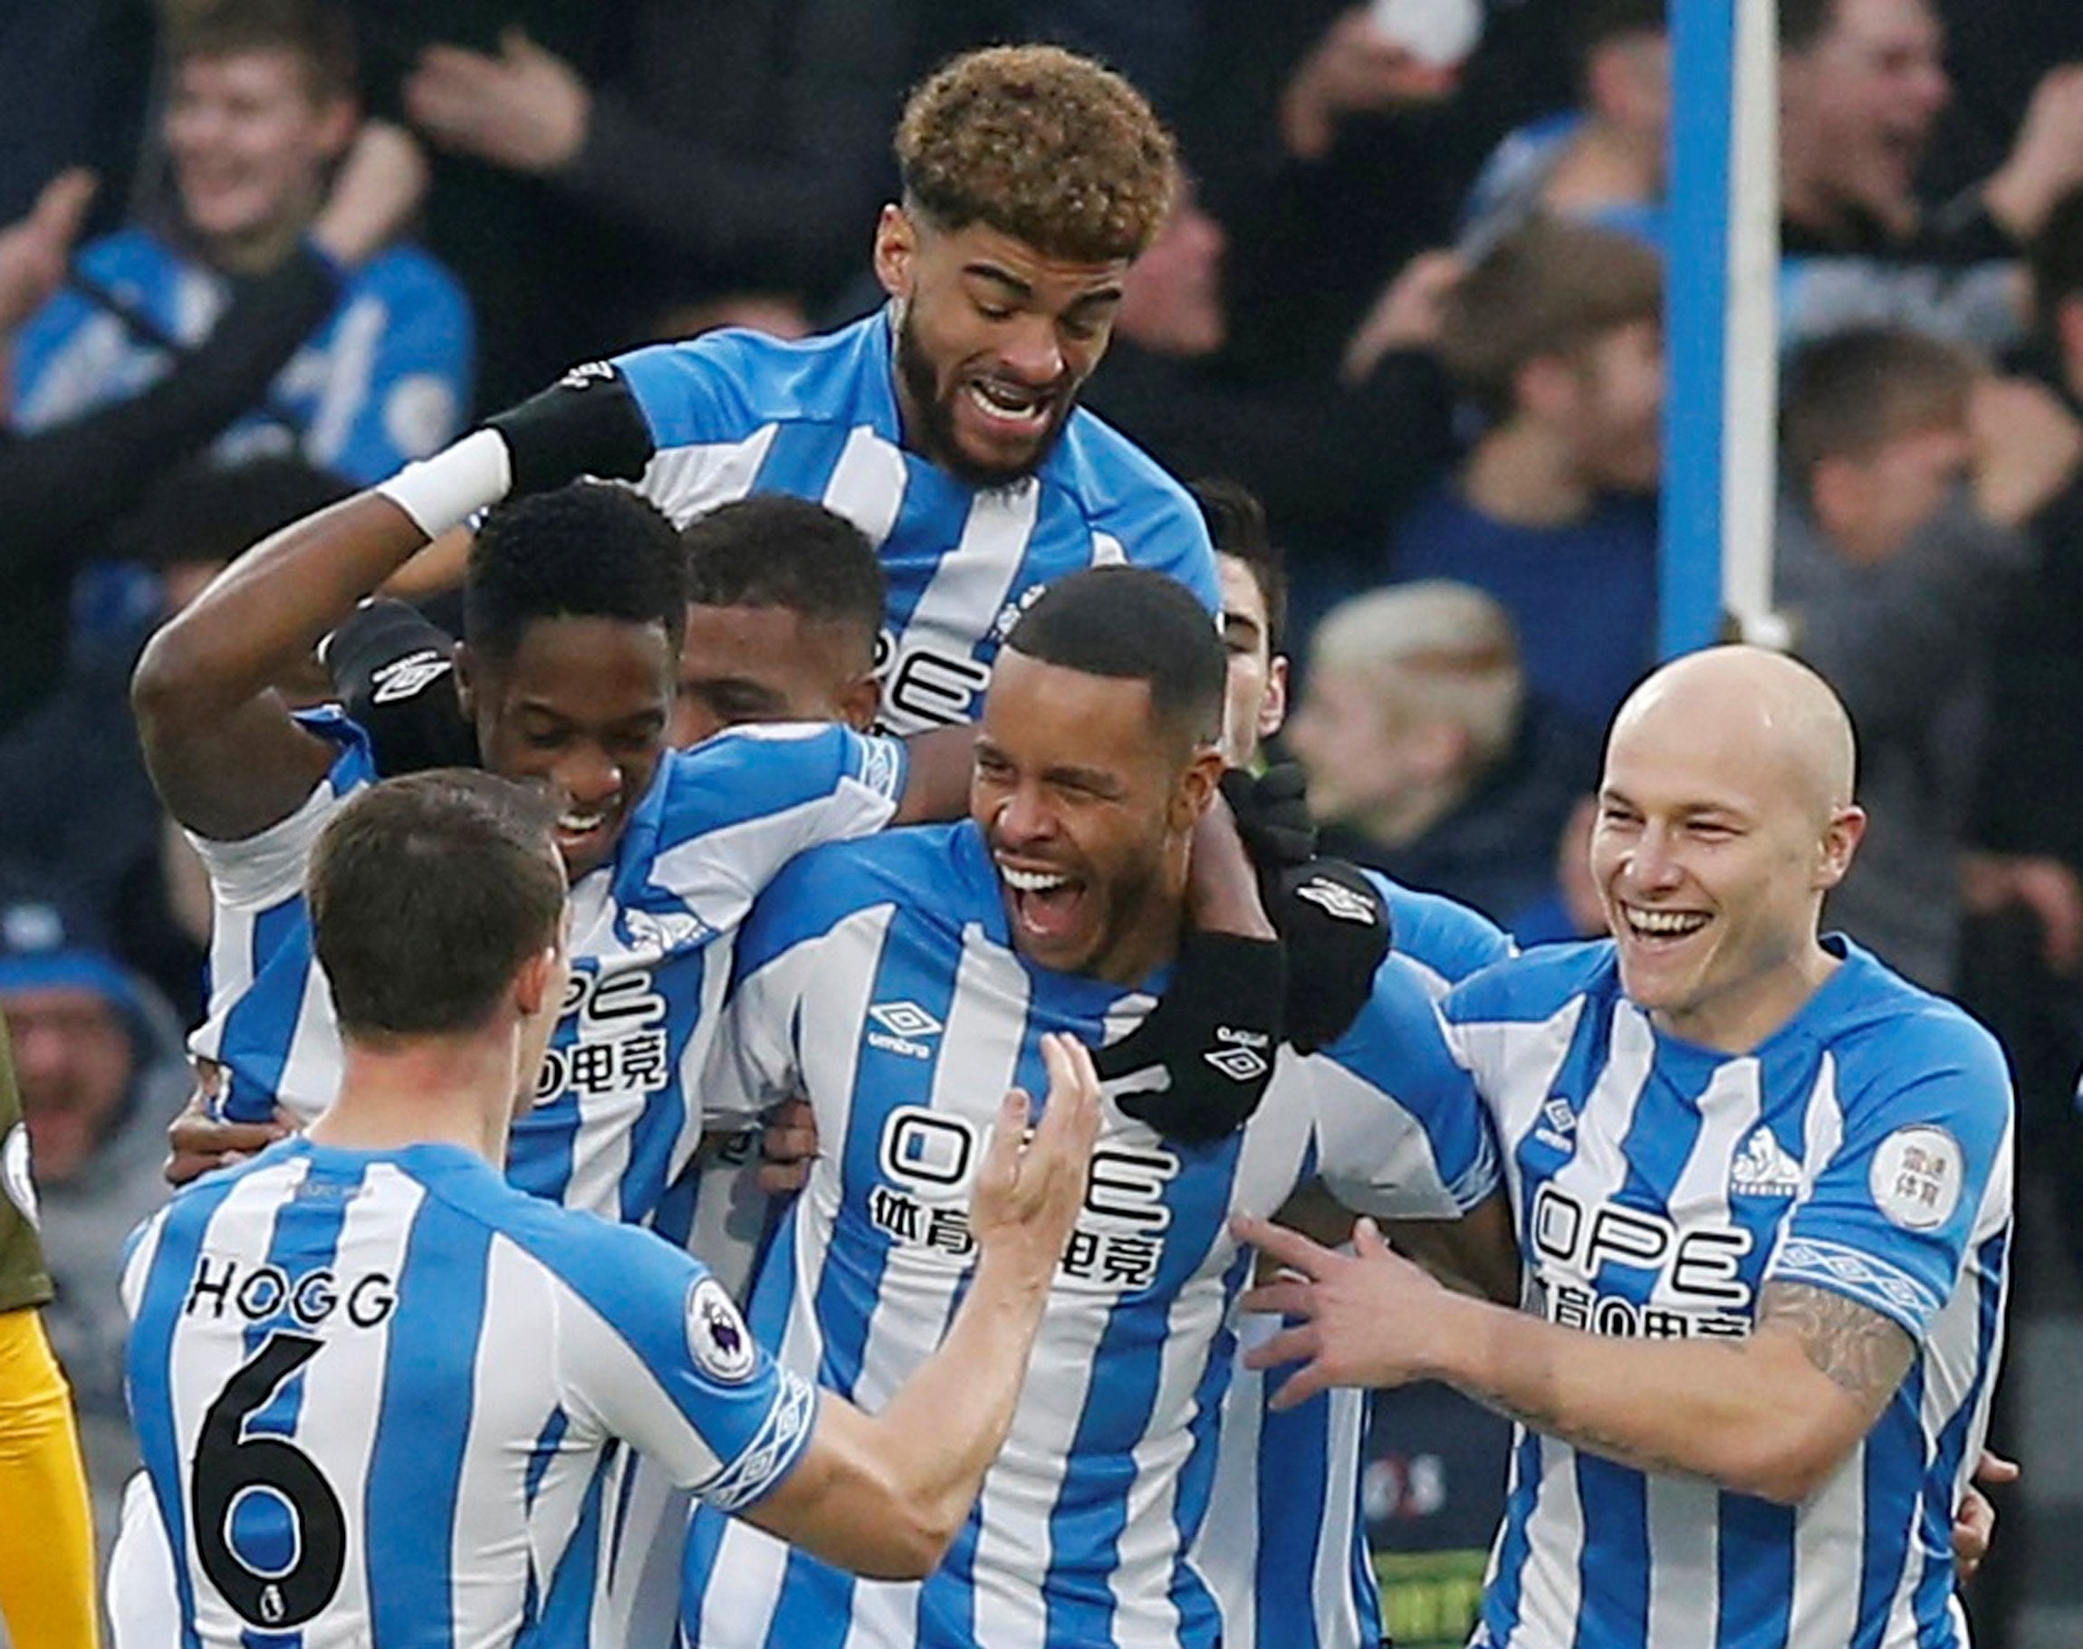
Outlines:
[{"label": "blurred smiling face of the spectator at top left", "polygon": [[290,50],[190,56],[173,71],[165,139],[187,227],[235,267],[294,239],[354,131]]}]

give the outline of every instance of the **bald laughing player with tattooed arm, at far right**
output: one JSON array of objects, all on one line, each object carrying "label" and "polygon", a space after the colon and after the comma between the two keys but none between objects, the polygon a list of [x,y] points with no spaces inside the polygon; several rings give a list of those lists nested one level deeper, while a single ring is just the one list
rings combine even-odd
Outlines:
[{"label": "bald laughing player with tattooed arm, at far right", "polygon": [[1612,939],[1489,968],[1441,1024],[1506,1164],[1527,1308],[1444,1293],[1362,1224],[1260,1222],[1298,1326],[1279,1401],[1446,1380],[1514,1418],[1475,1645],[1954,1649],[1948,1549],[1987,1428],[2010,1247],[1996,1041],[1839,935],[1843,706],[1718,648],[1606,750]]}]

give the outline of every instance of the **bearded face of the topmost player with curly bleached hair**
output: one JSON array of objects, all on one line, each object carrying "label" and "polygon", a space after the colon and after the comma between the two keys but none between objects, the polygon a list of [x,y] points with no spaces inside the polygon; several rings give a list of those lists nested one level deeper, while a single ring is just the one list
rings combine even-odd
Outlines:
[{"label": "bearded face of the topmost player with curly bleached hair", "polygon": [[898,300],[910,446],[960,481],[1033,475],[1106,354],[1127,258],[1050,258],[985,223],[942,229],[885,206],[875,273]]}]

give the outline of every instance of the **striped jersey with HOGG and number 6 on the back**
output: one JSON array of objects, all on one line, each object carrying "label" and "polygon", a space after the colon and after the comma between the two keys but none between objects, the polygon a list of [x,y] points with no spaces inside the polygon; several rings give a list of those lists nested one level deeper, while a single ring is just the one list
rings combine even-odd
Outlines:
[{"label": "striped jersey with HOGG and number 6 on the back", "polygon": [[742,1510],[817,1420],[700,1262],[456,1145],[283,1141],[152,1216],[123,1299],[181,1649],[577,1643],[617,1439]]}]

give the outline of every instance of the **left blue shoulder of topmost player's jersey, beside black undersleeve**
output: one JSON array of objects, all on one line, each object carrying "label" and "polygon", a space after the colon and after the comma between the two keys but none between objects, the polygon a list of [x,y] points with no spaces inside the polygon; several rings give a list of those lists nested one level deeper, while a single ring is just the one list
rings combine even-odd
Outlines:
[{"label": "left blue shoulder of topmost player's jersey, beside black undersleeve", "polygon": [[812,337],[725,327],[617,356],[660,448],[750,435],[773,423],[875,423],[869,398],[889,396],[869,314]]}]

